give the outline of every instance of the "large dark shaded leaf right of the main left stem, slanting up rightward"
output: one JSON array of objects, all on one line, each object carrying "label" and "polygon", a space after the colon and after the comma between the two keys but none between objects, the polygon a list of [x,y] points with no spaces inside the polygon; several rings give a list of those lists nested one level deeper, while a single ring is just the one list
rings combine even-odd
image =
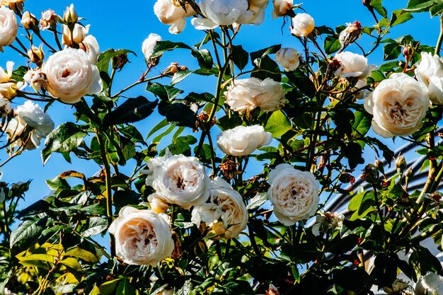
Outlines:
[{"label": "large dark shaded leaf right of the main left stem, slanting up rightward", "polygon": [[117,124],[138,122],[154,112],[159,100],[149,101],[144,96],[129,98],[103,118],[103,125],[109,127]]}]

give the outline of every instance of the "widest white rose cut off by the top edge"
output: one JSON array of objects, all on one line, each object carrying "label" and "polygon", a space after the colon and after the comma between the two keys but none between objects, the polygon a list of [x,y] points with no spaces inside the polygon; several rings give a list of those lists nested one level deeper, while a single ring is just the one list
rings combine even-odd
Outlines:
[{"label": "widest white rose cut off by the top edge", "polygon": [[210,30],[234,23],[263,23],[268,0],[200,0],[199,7],[206,18],[192,18],[197,30]]}]

